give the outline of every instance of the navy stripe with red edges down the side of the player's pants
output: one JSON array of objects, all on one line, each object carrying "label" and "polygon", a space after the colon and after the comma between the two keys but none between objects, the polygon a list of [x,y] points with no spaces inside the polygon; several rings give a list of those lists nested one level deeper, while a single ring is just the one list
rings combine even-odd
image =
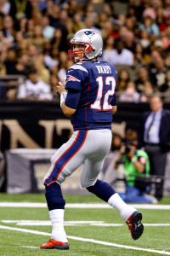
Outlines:
[{"label": "navy stripe with red edges down the side of the player's pants", "polygon": [[80,148],[82,148],[82,145],[85,142],[87,135],[88,131],[78,131],[75,141],[71,144],[69,148],[65,150],[63,154],[61,154],[59,159],[55,161],[52,172],[45,180],[45,185],[49,186],[51,183],[56,182],[57,178],[59,177],[59,173],[63,170],[68,161],[71,160],[71,158],[75,154],[77,154]]}]

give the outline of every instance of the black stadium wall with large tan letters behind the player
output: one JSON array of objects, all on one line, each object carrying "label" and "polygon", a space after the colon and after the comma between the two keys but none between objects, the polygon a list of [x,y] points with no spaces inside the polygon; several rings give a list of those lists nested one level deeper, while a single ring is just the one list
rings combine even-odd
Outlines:
[{"label": "black stadium wall with large tan letters behind the player", "polygon": [[[169,104],[165,106],[170,108]],[[71,136],[70,119],[56,102],[0,102],[0,150],[10,148],[59,148]],[[138,129],[148,103],[120,103],[112,129],[124,136],[127,128]]]}]

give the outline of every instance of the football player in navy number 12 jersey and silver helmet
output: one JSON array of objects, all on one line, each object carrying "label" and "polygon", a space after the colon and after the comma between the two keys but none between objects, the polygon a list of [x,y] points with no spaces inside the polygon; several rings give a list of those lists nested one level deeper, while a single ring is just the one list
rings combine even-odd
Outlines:
[{"label": "football player in navy number 12 jersey and silver helmet", "polygon": [[112,114],[116,113],[116,68],[97,60],[102,48],[101,36],[90,29],[78,31],[71,39],[68,54],[75,64],[68,69],[66,81],[59,82],[57,93],[63,113],[71,117],[74,133],[51,158],[43,180],[52,222],[52,236],[41,246],[43,249],[69,248],[64,229],[65,200],[60,185],[82,164],[82,188],[116,208],[134,240],[144,230],[142,214],[127,206],[110,184],[98,179],[105,155],[111,148]]}]

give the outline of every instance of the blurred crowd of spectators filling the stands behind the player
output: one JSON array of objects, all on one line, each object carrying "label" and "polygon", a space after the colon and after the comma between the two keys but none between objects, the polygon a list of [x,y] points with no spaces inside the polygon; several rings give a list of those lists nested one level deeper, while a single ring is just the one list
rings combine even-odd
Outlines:
[{"label": "blurred crowd of spectators filling the stands behind the player", "polygon": [[[117,67],[120,102],[150,102],[155,92],[170,101],[170,0],[1,0],[0,97],[53,100],[82,28],[102,35],[99,61]],[[5,75],[26,81],[16,90],[2,86]]]}]

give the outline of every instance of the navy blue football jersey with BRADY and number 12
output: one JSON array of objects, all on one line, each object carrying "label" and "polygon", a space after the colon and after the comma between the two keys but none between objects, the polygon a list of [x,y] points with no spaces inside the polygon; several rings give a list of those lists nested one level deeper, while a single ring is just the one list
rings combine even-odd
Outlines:
[{"label": "navy blue football jersey with BRADY and number 12", "polygon": [[[116,83],[116,68],[106,61],[78,62],[68,69],[65,90],[80,95],[77,111],[71,116],[75,131],[111,129]],[[73,108],[74,102],[65,100],[65,105]]]}]

